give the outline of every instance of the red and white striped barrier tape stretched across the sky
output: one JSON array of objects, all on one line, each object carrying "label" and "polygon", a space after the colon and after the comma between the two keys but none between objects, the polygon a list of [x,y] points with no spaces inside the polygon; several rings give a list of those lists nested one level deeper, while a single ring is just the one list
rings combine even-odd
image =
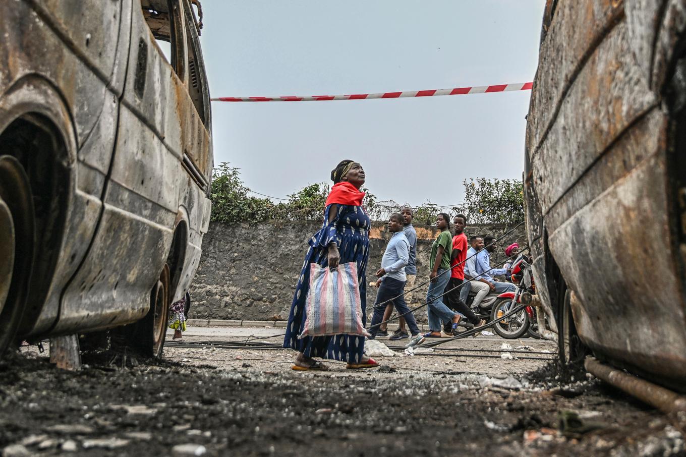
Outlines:
[{"label": "red and white striped barrier tape stretched across the sky", "polygon": [[405,91],[383,93],[357,93],[353,95],[309,95],[298,97],[284,95],[282,97],[218,97],[213,102],[325,102],[329,100],[364,100],[372,98],[404,98],[404,97],[436,97],[438,95],[466,95],[470,93],[530,91],[533,82],[518,84],[495,84],[493,86],[459,87],[457,89],[433,89],[430,91]]}]

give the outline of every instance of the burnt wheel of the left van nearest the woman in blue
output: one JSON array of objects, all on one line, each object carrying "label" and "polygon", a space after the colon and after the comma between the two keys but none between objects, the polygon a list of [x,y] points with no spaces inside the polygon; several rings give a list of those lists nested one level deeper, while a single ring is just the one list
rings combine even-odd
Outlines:
[{"label": "burnt wheel of the left van nearest the woman in blue", "polygon": [[162,357],[171,305],[170,286],[169,266],[165,264],[160,278],[150,291],[150,311],[137,323],[123,327],[126,344],[148,357]]}]

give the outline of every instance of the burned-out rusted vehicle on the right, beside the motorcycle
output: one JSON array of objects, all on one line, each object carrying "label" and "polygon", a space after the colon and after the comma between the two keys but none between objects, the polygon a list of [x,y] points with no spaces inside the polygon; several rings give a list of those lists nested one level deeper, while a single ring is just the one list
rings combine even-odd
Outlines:
[{"label": "burned-out rusted vehicle on the right, beside the motorcycle", "polygon": [[527,119],[545,336],[685,391],[686,1],[548,0]]}]

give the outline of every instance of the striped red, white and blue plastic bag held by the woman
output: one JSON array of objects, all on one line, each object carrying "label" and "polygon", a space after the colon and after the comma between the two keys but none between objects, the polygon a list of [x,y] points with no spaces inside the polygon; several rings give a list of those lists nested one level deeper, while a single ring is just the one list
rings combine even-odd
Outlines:
[{"label": "striped red, white and blue plastic bag held by the woman", "polygon": [[305,336],[370,336],[362,325],[357,263],[339,263],[338,268],[309,264],[309,290],[305,298]]}]

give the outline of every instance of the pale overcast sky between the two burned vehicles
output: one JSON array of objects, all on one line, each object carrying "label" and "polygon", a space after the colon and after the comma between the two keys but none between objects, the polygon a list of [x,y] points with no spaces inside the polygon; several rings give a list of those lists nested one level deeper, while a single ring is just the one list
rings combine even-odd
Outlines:
[{"label": "pale overcast sky between the two burned vehicles", "polygon": [[[212,97],[337,95],[532,81],[545,0],[204,0]],[[285,197],[362,163],[379,200],[462,201],[517,178],[530,91],[335,102],[213,102],[215,165]]]}]

